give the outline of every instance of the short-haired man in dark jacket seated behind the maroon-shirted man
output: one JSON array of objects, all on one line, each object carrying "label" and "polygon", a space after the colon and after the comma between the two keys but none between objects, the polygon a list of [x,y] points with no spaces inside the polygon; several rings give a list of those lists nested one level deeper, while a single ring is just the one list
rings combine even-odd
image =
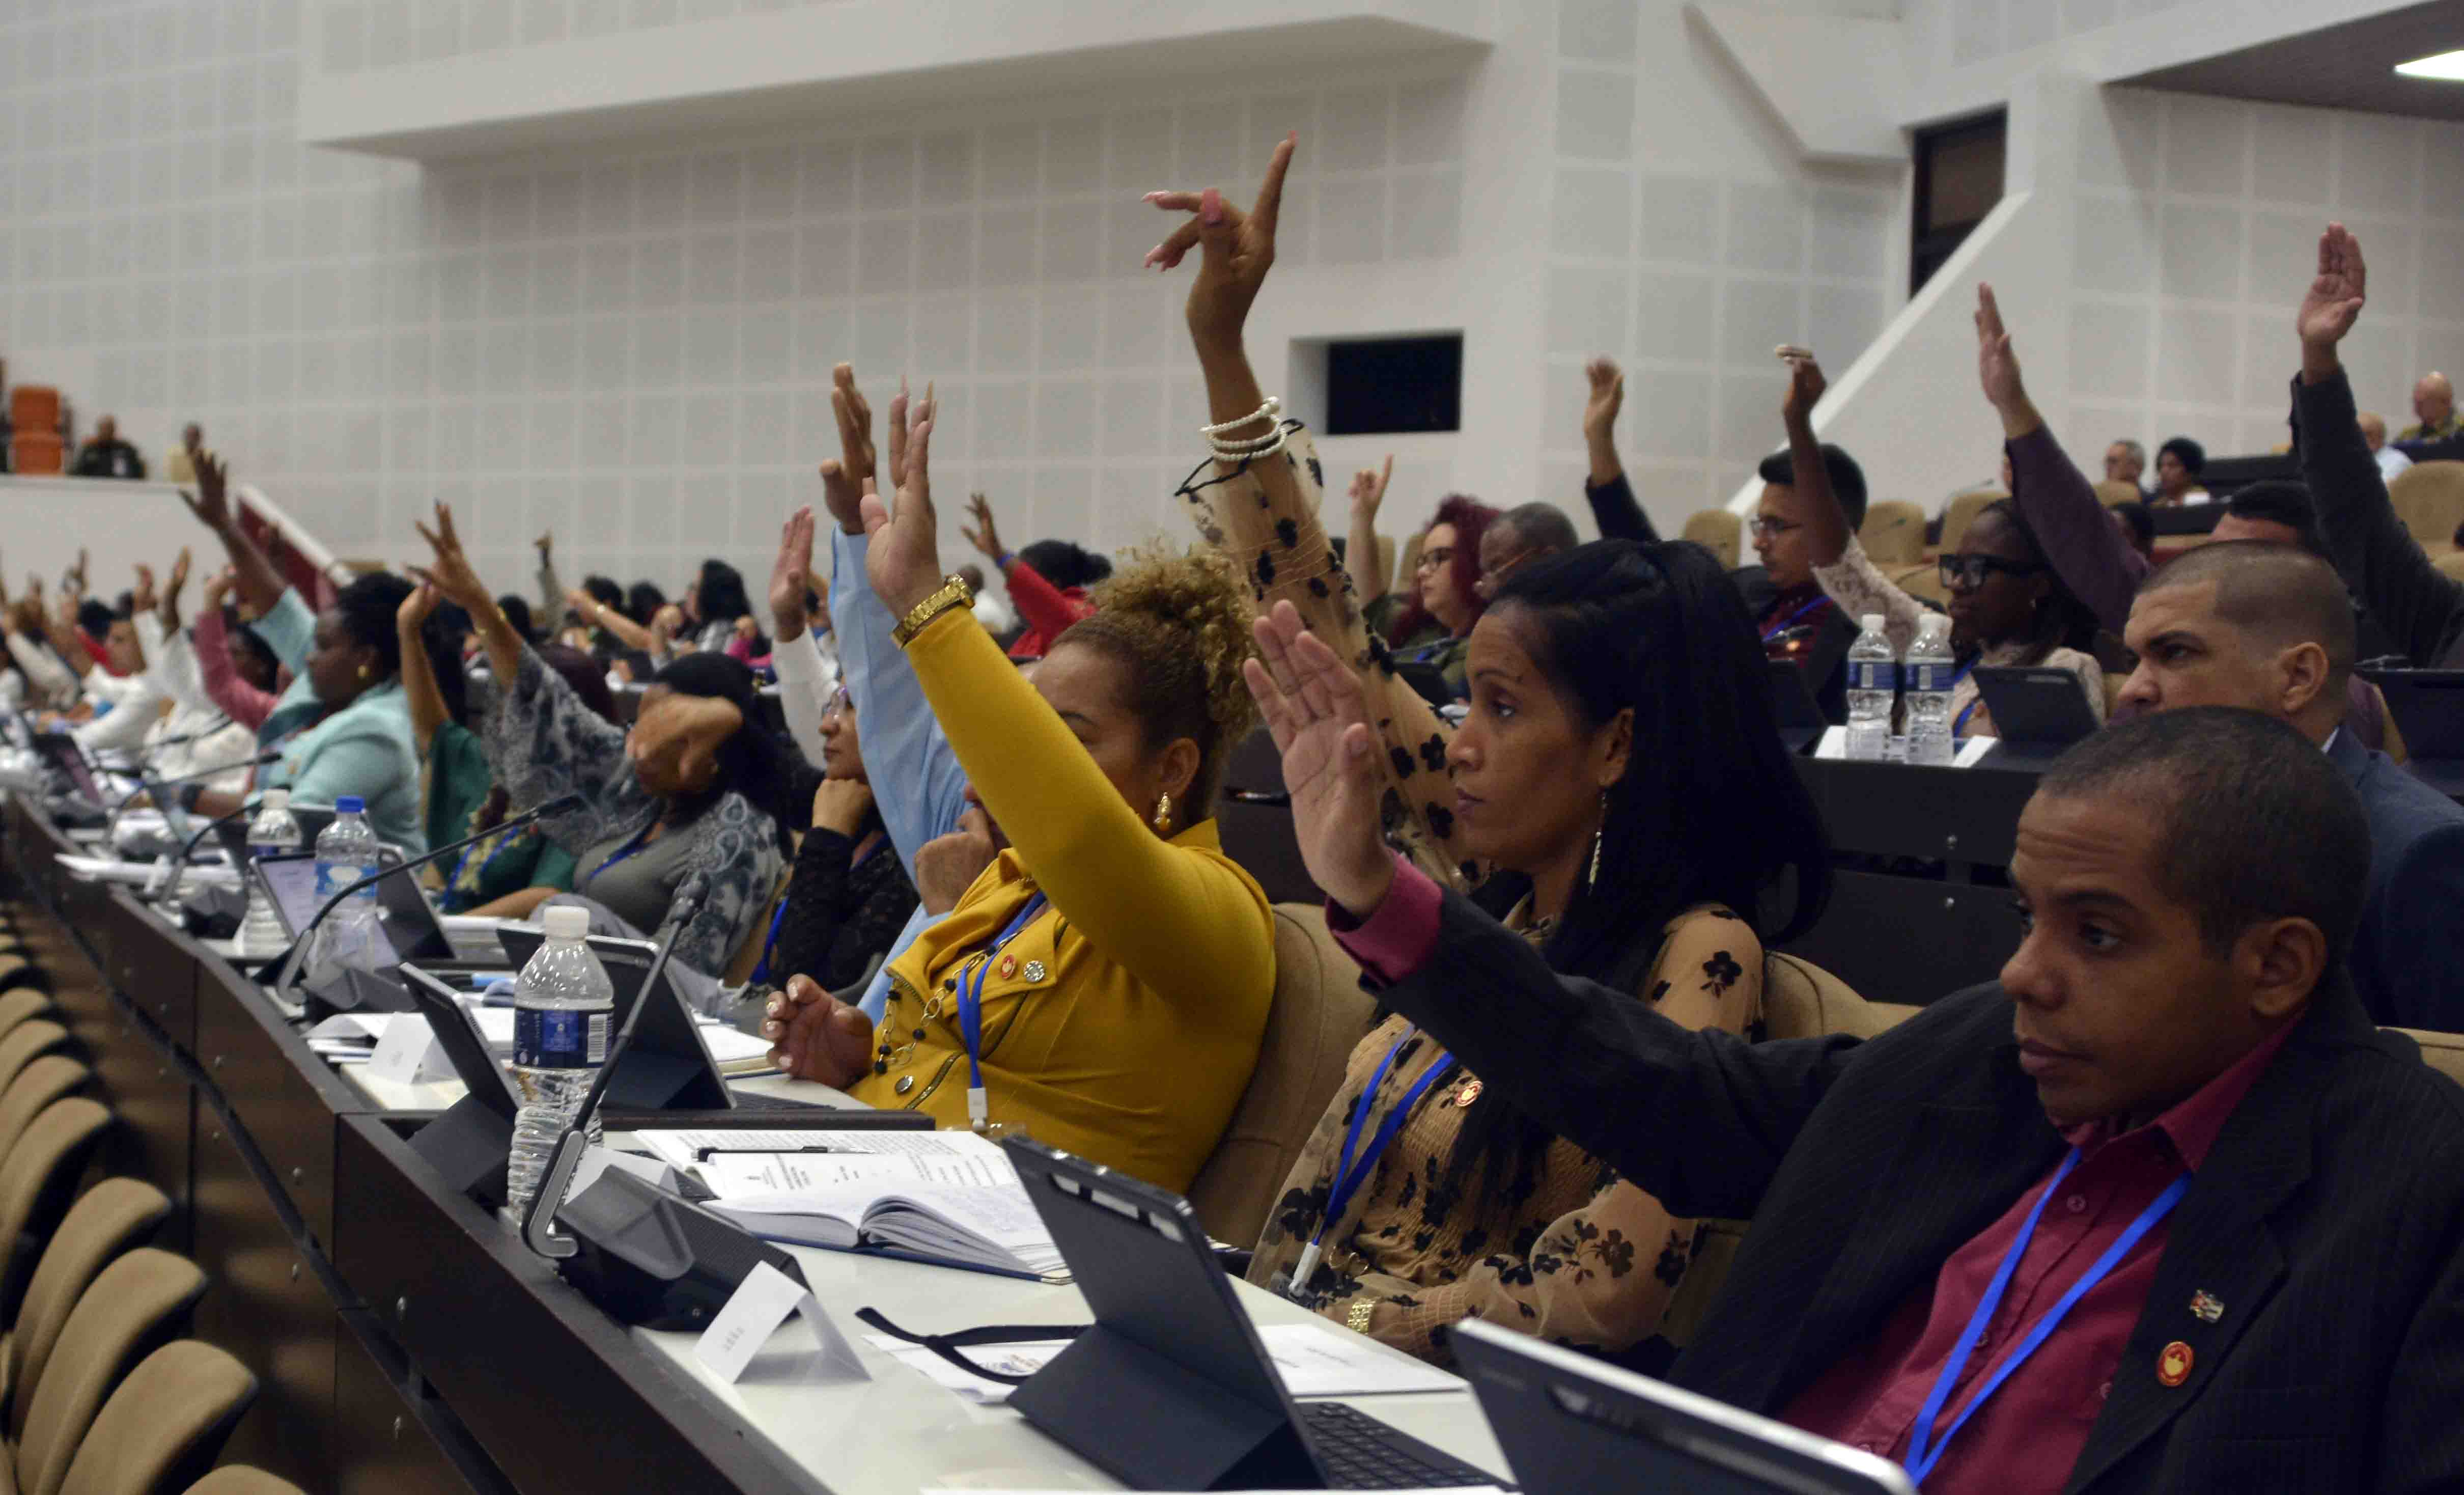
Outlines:
[{"label": "short-haired man in dark jacket seated behind the maroon-shirted man", "polygon": [[2122,704],[2242,707],[2326,746],[2370,818],[2351,970],[2373,1022],[2464,1032],[2464,805],[2365,749],[2346,722],[2353,608],[2336,569],[2287,544],[2203,544],[2139,589]]}]

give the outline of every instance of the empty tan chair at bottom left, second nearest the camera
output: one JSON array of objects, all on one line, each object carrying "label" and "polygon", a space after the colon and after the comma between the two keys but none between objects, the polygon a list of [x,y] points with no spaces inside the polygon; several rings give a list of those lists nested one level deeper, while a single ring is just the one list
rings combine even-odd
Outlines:
[{"label": "empty tan chair at bottom left, second nearest the camera", "polygon": [[177,1495],[214,1465],[251,1401],[249,1367],[200,1340],[163,1345],[103,1404],[59,1495]]}]

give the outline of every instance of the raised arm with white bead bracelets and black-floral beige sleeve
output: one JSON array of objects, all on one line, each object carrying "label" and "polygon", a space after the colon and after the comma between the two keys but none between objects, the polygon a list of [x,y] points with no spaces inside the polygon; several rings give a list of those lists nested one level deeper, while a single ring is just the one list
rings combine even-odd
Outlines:
[{"label": "raised arm with white bead bracelets and black-floral beige sleeve", "polygon": [[[1385,749],[1377,756],[1377,773],[1402,810],[1387,830],[1432,877],[1461,884],[1471,867],[1454,842],[1454,786],[1446,776],[1451,729],[1395,675],[1385,643],[1370,638],[1360,598],[1335,564],[1318,517],[1323,470],[1316,446],[1299,421],[1264,411],[1266,401],[1242,340],[1249,305],[1274,266],[1284,172],[1296,145],[1299,138],[1276,145],[1257,207],[1247,214],[1212,187],[1148,195],[1163,212],[1190,214],[1148,254],[1148,264],[1173,268],[1190,249],[1202,251],[1188,298],[1190,342],[1207,377],[1215,424],[1232,421],[1215,433],[1215,441],[1230,446],[1220,446],[1215,458],[1183,483],[1180,495],[1190,502],[1190,517],[1207,544],[1247,571],[1262,616],[1291,603],[1318,638],[1333,640],[1360,670]],[[1266,446],[1257,446],[1262,441]]]}]

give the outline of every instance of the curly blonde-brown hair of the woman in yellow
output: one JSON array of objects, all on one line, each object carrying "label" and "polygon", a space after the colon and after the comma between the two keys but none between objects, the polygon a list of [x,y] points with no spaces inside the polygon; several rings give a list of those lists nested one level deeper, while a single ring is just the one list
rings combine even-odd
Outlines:
[{"label": "curly blonde-brown hair of the woman in yellow", "polygon": [[1190,820],[1215,810],[1225,759],[1257,727],[1257,702],[1242,660],[1257,653],[1249,635],[1249,586],[1212,547],[1151,544],[1129,552],[1111,579],[1087,598],[1092,618],[1069,626],[1052,648],[1079,643],[1129,667],[1131,712],[1146,722],[1151,746],[1178,736],[1198,744]]}]

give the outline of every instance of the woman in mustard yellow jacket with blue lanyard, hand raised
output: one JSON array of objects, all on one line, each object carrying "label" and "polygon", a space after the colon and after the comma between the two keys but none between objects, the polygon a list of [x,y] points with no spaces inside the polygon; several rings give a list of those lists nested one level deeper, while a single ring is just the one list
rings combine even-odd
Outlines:
[{"label": "woman in mustard yellow jacket with blue lanyard, hand raised", "polygon": [[[880,1025],[798,975],[764,1034],[788,1074],[870,1106],[1015,1126],[1188,1190],[1249,1084],[1274,995],[1266,894],[1212,820],[1225,756],[1254,722],[1249,598],[1217,554],[1143,557],[1096,589],[1096,616],[1030,682],[941,571],[931,421],[929,394],[912,426],[904,394],[890,406],[897,512],[862,498],[865,576],[899,618],[983,830],[1008,845],[892,961]],[[823,470],[843,527],[862,448]]]}]

